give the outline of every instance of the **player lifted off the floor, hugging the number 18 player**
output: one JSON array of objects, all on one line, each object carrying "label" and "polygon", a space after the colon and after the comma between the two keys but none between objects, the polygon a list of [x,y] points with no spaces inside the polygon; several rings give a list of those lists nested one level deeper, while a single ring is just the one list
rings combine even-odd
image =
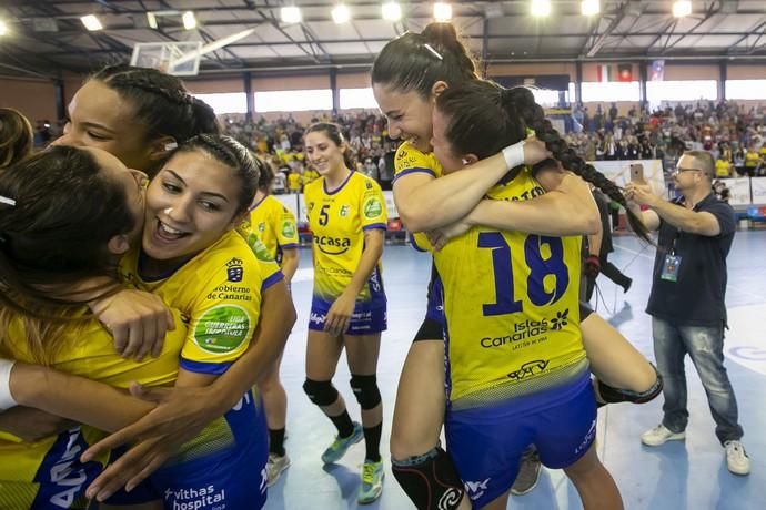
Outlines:
[{"label": "player lifted off the floor, hugging the number 18 player", "polygon": [[[454,69],[461,65],[462,69]],[[435,178],[442,172],[429,143],[433,101],[448,85],[471,83],[475,78],[475,67],[465,48],[457,40],[454,28],[445,23],[435,23],[420,34],[406,33],[393,40],[373,65],[373,92],[389,118],[390,134],[406,140],[395,160],[394,198],[402,218],[413,231],[437,228],[464,216],[510,167],[524,162],[523,156],[513,157],[514,152],[508,147],[502,154],[467,166],[465,172]],[[521,149],[521,144],[516,146]],[[521,153],[526,155],[527,163],[535,163],[545,155],[536,142],[528,140],[515,154]],[[597,213],[589,192],[568,185],[574,183],[572,178],[565,182],[566,186],[556,190],[555,196],[560,200],[554,207],[537,201],[527,205],[541,212],[542,222],[534,215],[516,216],[520,221],[515,228],[530,232],[531,227],[542,224],[548,230],[553,226],[557,235],[587,233],[594,228]],[[439,282],[435,283],[431,286],[434,292],[430,292],[426,319],[415,337],[417,341],[410,349],[400,379],[391,439],[393,472],[419,508],[467,508],[466,501],[461,503],[463,487],[454,467],[437,446],[444,395],[440,390],[443,371],[436,373],[435,367],[443,364],[444,346],[441,303],[431,299],[439,295]],[[601,318],[593,317],[593,335],[614,332]],[[617,334],[617,338],[622,337]],[[645,367],[648,371],[639,368],[631,377],[619,373],[616,379],[609,380],[621,387],[635,385],[639,390],[646,389],[656,382],[656,376],[648,365]]]}]

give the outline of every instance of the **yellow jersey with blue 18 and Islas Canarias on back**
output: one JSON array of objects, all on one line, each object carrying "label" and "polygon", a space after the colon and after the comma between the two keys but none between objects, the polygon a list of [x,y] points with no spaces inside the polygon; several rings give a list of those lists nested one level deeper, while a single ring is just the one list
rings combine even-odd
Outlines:
[{"label": "yellow jersey with blue 18 and Islas Canarias on back", "polygon": [[[517,201],[543,193],[524,169],[487,197]],[[444,285],[454,409],[566,387],[587,370],[579,333],[579,236],[480,226],[434,253]]]}]

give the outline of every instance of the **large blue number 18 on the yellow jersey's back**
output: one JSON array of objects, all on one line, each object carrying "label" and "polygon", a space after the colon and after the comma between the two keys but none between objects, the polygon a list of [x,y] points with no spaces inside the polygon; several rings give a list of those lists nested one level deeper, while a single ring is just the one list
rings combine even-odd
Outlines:
[{"label": "large blue number 18 on the yellow jersey's back", "polygon": [[[551,256],[543,259],[541,245],[547,244]],[[514,300],[513,265],[511,246],[500,232],[478,234],[478,247],[492,249],[492,267],[495,273],[495,303],[483,305],[484,315],[505,315],[522,312],[522,302]],[[524,258],[530,267],[526,279],[526,293],[530,302],[536,306],[552,305],[557,302],[570,284],[570,273],[564,264],[564,246],[560,237],[528,235],[524,242]],[[555,288],[545,292],[544,280],[547,275],[555,277]]]}]

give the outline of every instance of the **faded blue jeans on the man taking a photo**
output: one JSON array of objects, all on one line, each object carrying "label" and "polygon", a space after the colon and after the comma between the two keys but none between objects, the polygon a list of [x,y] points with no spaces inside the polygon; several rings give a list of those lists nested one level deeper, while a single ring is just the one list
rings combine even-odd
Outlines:
[{"label": "faded blue jeans on the man taking a photo", "polygon": [[682,432],[688,422],[686,409],[686,371],[684,357],[688,354],[707,394],[715,434],[723,445],[743,436],[738,424],[737,399],[724,367],[724,324],[720,326],[675,326],[667,320],[652,318],[654,355],[657,371],[663,376],[665,404],[663,425],[673,432]]}]

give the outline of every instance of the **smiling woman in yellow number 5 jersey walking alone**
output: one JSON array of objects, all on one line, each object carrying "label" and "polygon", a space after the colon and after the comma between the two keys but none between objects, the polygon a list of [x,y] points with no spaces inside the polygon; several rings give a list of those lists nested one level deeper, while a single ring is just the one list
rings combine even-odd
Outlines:
[{"label": "smiling woman in yellow number 5 jersey walking alone", "polygon": [[[381,332],[386,329],[381,277],[385,200],[375,181],[351,170],[352,154],[337,125],[314,124],[304,142],[306,156],[321,177],[304,191],[314,238],[314,298],[303,389],[337,428],[337,437],[322,455],[325,463],[339,460],[364,437],[366,456],[357,500],[370,503],[383,491],[383,407],[375,373]],[[362,425],[351,421],[343,397],[332,385],[344,348],[351,387],[362,406]]]}]

